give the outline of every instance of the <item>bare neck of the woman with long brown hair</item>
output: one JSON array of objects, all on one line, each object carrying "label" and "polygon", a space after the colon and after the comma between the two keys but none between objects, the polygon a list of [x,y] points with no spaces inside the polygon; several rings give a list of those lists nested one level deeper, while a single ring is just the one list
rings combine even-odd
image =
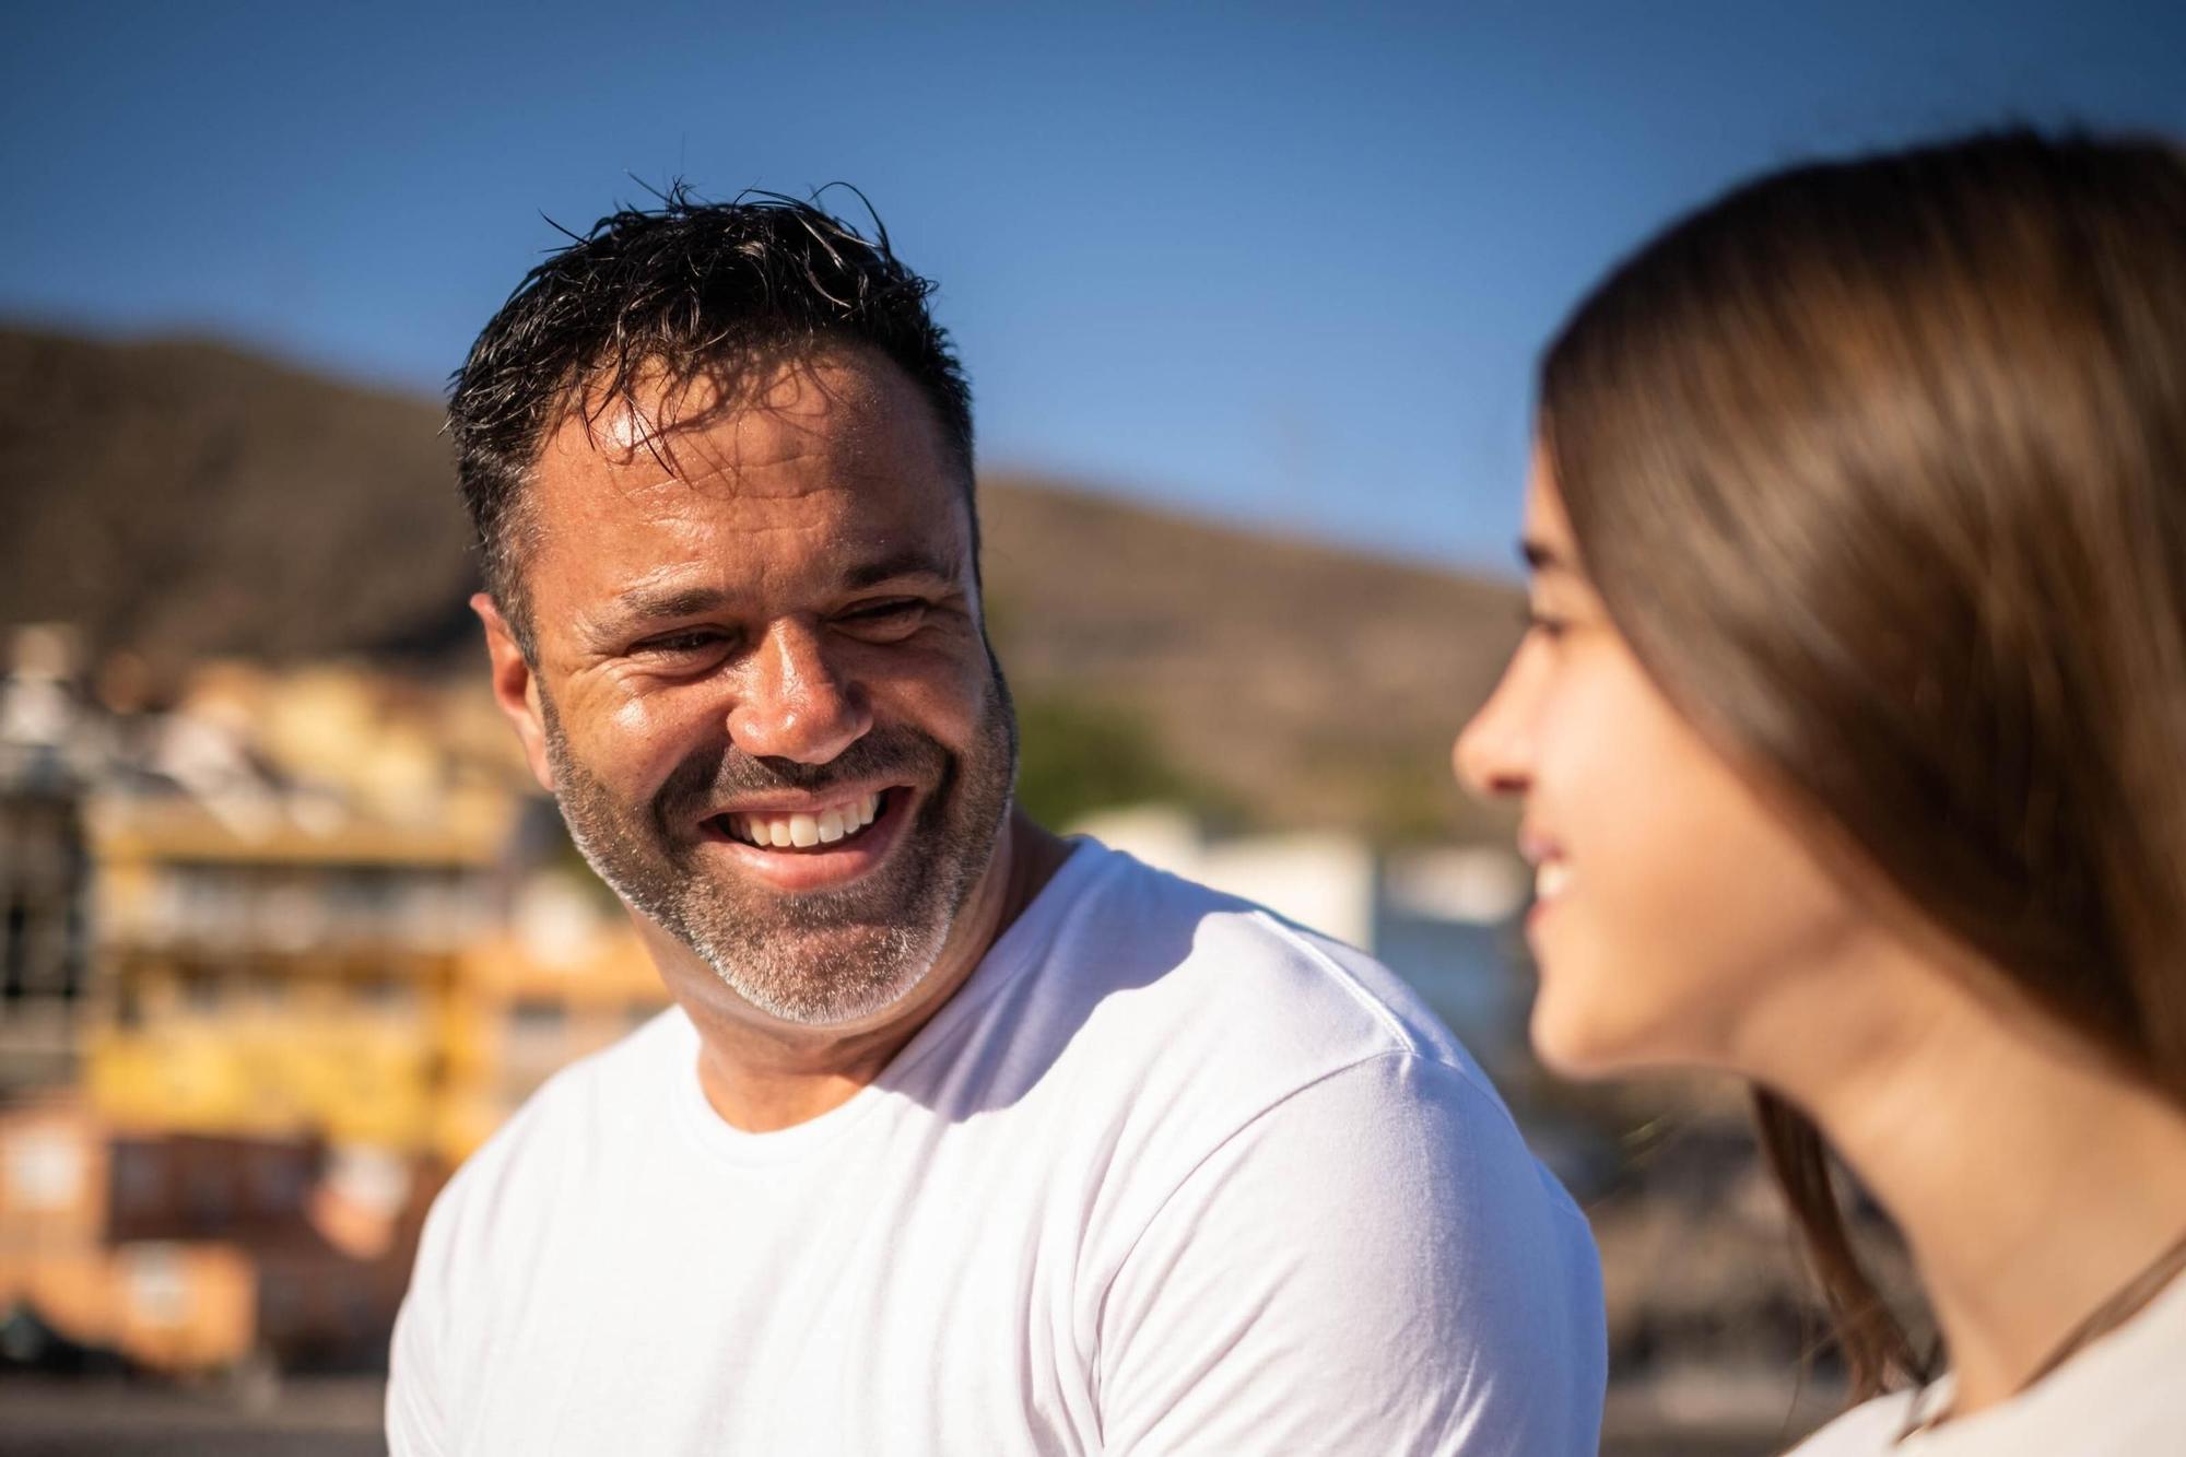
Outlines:
[{"label": "bare neck of the woman with long brown hair", "polygon": [[1904,1229],[1956,1413],[2037,1378],[2186,1232],[2186,1114],[2033,1013],[1946,1000],[1795,1096]]}]

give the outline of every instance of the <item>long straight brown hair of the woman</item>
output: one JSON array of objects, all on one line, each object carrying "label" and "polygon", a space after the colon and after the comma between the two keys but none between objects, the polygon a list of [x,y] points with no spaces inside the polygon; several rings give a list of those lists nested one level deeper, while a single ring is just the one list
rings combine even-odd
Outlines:
[{"label": "long straight brown hair of the woman", "polygon": [[[1758,785],[2186,1105],[2186,160],[1991,133],[1738,188],[1541,368],[1609,615]],[[1856,1394],[1913,1352],[1760,1092]]]}]

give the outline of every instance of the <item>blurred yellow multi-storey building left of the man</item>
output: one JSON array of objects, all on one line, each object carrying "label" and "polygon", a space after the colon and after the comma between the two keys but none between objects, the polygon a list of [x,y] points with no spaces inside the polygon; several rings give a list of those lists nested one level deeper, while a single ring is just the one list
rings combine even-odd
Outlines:
[{"label": "blurred yellow multi-storey building left of the man", "polygon": [[667,1004],[601,897],[525,864],[538,801],[483,696],[221,667],[181,715],[286,788],[90,803],[111,1015],[85,1085],[118,1129],[453,1166],[553,1068]]}]

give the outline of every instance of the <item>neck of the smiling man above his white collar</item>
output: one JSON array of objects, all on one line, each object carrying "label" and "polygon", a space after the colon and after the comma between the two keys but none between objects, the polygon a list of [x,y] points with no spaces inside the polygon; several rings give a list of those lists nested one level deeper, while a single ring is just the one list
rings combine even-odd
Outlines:
[{"label": "neck of the smiling man above his white collar", "polygon": [[[700,1085],[724,1122],[772,1133],[842,1107],[896,1059],[986,958],[995,941],[1054,879],[1069,844],[1012,809],[995,853],[949,928],[933,969],[898,1004],[848,1028],[811,1028],[765,1017],[750,1006],[684,1011],[700,1035]],[[658,954],[682,954],[675,943]]]}]

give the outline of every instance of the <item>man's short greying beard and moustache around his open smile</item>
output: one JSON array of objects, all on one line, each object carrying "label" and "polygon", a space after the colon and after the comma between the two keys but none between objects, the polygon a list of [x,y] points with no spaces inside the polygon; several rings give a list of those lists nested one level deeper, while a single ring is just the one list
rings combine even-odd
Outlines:
[{"label": "man's short greying beard and moustache around his open smile", "polygon": [[[689,755],[643,805],[616,799],[571,753],[544,689],[540,720],[562,818],[592,871],[759,1011],[833,1026],[896,1004],[933,969],[992,860],[1016,777],[1016,713],[999,665],[988,685],[962,755],[903,726],[874,726],[826,764],[719,744]],[[702,864],[693,836],[710,805],[835,783],[925,790],[918,818],[898,827],[888,860],[859,879],[791,895]]]}]

